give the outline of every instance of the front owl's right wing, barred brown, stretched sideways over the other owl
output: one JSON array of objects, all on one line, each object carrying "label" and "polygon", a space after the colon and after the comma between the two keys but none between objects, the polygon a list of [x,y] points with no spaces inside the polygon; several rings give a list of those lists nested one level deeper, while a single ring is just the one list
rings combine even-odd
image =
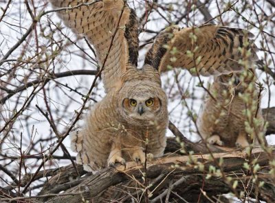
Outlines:
[{"label": "front owl's right wing, barred brown, stretched sideways over the other owl", "polygon": [[[253,34],[243,29],[218,25],[184,29],[168,27],[155,38],[144,63],[152,65],[159,72],[174,67],[205,76],[238,72],[243,69],[239,60],[245,58],[245,51],[239,47],[250,50],[251,54],[246,54],[249,65],[258,59],[256,46],[247,40],[251,37]],[[245,46],[246,41],[250,43],[249,46]]]}]

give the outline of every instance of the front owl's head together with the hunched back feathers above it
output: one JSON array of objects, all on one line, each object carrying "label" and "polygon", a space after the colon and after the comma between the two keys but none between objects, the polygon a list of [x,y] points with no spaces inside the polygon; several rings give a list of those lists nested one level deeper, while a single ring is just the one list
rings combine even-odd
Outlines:
[{"label": "front owl's head together with the hunched back feathers above it", "polygon": [[133,126],[163,123],[168,119],[167,97],[157,71],[144,68],[135,74],[137,79],[128,80],[118,91],[120,119]]}]

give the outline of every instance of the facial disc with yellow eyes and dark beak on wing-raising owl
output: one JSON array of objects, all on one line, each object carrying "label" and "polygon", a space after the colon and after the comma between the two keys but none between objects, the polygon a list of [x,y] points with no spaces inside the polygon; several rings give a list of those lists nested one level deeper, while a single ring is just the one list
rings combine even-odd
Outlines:
[{"label": "facial disc with yellow eyes and dark beak on wing-raising owl", "polygon": [[159,97],[126,97],[122,101],[122,108],[127,117],[135,120],[153,121],[162,110]]}]

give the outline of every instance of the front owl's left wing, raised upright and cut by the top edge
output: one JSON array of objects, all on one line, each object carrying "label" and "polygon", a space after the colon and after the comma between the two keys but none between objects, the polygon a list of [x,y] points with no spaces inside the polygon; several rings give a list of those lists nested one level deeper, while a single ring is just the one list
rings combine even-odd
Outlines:
[{"label": "front owl's left wing, raised upright and cut by the top edge", "polygon": [[[127,64],[136,67],[138,56],[137,20],[135,12],[123,0],[50,0],[58,16],[76,34],[86,36],[96,49],[102,66],[118,28],[109,56],[104,64],[102,80],[107,91],[120,83]],[[61,9],[59,8],[67,8]],[[122,11],[123,10],[123,11]],[[118,25],[119,22],[119,25]]]}]

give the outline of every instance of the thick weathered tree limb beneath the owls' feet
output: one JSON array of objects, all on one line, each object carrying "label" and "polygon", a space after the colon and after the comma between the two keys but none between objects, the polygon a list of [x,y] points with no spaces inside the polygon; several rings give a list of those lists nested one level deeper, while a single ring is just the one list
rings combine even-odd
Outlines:
[{"label": "thick weathered tree limb beneath the owls' feet", "polygon": [[[274,157],[275,150],[272,148],[271,156]],[[146,178],[151,184],[148,187],[148,197],[151,202],[168,200],[182,202],[217,202],[219,195],[232,191],[232,183],[238,180],[236,192],[243,191],[245,180],[250,180],[251,174],[243,169],[243,164],[248,159],[248,154],[244,151],[214,153],[214,161],[210,154],[190,156],[172,156],[166,154],[162,158],[149,161],[146,167]],[[262,168],[269,167],[270,156],[261,147],[252,150],[252,157],[257,158],[254,165],[258,163]],[[233,180],[229,183],[217,176],[207,179],[210,166],[217,167],[220,158],[223,158],[221,170],[224,177],[232,176]],[[198,169],[195,163],[200,162],[204,169]],[[219,167],[217,167],[219,168]],[[85,173],[81,166],[80,174]],[[247,176],[244,176],[244,175]],[[263,187],[256,187],[252,180],[249,181],[246,189],[250,190],[250,197],[256,198],[258,193],[259,200],[275,202],[275,181],[274,176],[259,171],[258,181],[264,181]],[[98,174],[86,174],[81,178],[76,178],[76,172],[72,165],[63,167],[60,174],[56,174],[43,188],[43,194],[59,193],[64,191],[68,195],[56,196],[54,198],[43,198],[41,202],[82,202],[92,200],[92,202],[131,202],[132,198],[140,198],[144,202],[144,166],[137,165],[135,162],[126,163],[124,166],[118,165],[116,168],[108,167],[102,169]],[[65,181],[67,180],[67,182]],[[176,184],[177,183],[177,184]],[[171,189],[173,188],[173,189]],[[170,191],[169,191],[170,190]],[[203,191],[203,192],[201,192]],[[205,192],[205,193],[204,193]],[[41,192],[42,194],[42,192]],[[69,195],[72,194],[72,195]]]}]

